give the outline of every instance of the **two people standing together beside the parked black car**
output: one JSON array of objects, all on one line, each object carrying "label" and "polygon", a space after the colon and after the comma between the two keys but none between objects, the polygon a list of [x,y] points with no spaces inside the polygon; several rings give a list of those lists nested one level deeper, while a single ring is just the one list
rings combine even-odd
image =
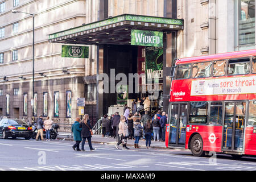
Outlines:
[{"label": "two people standing together beside the parked black car", "polygon": [[38,141],[39,135],[41,137],[41,140],[44,140],[43,137],[43,129],[46,130],[46,141],[51,140],[51,129],[52,129],[52,123],[53,121],[49,119],[49,117],[46,118],[45,121],[43,121],[43,115],[40,115],[38,120],[36,121],[36,127],[38,129],[38,133],[36,134],[36,140]]}]

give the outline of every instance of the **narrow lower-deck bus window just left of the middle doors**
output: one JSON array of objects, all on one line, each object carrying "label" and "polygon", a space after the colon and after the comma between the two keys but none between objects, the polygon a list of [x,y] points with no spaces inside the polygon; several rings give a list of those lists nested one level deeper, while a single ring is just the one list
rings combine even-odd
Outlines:
[{"label": "narrow lower-deck bus window just left of the middle doors", "polygon": [[210,125],[220,125],[222,121],[222,103],[212,102],[210,104]]}]

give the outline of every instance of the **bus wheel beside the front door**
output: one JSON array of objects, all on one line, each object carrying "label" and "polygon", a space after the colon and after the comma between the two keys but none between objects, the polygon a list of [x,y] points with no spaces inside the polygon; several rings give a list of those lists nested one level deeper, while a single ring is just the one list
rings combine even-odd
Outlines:
[{"label": "bus wheel beside the front door", "polygon": [[204,155],[203,139],[201,138],[201,136],[199,134],[196,134],[193,136],[193,138],[191,139],[190,147],[191,147],[191,152],[193,155],[198,156],[198,157]]}]

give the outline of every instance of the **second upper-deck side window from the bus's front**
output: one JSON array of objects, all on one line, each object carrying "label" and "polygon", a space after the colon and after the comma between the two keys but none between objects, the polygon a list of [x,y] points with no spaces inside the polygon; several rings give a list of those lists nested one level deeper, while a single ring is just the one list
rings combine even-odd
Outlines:
[{"label": "second upper-deck side window from the bus's front", "polygon": [[212,73],[212,62],[193,64],[193,78],[209,77]]}]

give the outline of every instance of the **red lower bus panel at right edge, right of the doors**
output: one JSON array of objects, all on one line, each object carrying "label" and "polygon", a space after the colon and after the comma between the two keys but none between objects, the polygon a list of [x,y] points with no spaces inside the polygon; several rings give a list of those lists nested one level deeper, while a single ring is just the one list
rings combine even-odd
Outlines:
[{"label": "red lower bus panel at right edge, right of the doors", "polygon": [[256,155],[256,130],[254,127],[245,129],[245,154]]}]

